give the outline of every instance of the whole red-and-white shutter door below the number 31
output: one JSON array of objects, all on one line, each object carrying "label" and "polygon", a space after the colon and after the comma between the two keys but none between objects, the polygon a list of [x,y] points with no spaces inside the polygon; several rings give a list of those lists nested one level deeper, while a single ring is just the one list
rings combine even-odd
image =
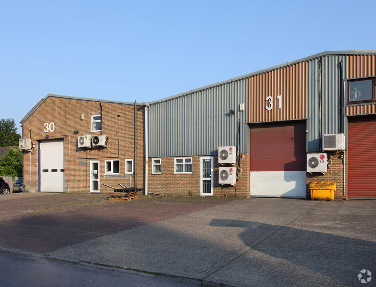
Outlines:
[{"label": "whole red-and-white shutter door below the number 31", "polygon": [[252,124],[250,195],[306,197],[306,122]]}]

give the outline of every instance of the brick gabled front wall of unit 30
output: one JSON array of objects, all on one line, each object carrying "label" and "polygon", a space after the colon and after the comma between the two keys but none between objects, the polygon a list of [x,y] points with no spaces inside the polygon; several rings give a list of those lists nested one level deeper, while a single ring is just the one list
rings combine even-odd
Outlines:
[{"label": "brick gabled front wall of unit 30", "polygon": [[[100,191],[111,192],[111,188],[129,186],[125,175],[125,159],[134,159],[134,105],[101,102],[102,134],[108,137],[107,147],[79,148],[78,137],[91,132],[91,116],[101,112],[100,102],[48,97],[42,105],[23,123],[23,138],[29,138],[35,148],[23,155],[23,180],[27,191],[38,191],[38,142],[63,139],[65,192],[90,192],[90,160],[100,162]],[[84,120],[80,116],[84,115]],[[137,187],[144,187],[144,107],[137,106]],[[54,131],[45,131],[45,123],[54,123]],[[78,130],[78,134],[74,133]],[[50,138],[46,139],[46,135]],[[119,159],[120,174],[104,175],[104,160]],[[134,174],[131,175],[134,187]]]}]

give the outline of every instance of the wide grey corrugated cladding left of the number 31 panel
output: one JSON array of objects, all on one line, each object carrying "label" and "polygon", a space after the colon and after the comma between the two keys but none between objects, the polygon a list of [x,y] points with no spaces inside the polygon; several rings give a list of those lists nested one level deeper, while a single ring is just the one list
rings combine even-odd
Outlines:
[{"label": "wide grey corrugated cladding left of the number 31 panel", "polygon": [[149,156],[218,154],[218,146],[237,145],[239,118],[240,153],[248,153],[241,103],[247,107],[245,79],[150,104]]}]

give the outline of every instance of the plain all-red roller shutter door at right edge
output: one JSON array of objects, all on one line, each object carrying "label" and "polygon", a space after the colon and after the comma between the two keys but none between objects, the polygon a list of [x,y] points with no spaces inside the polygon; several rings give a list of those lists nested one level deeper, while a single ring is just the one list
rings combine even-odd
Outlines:
[{"label": "plain all-red roller shutter door at right edge", "polygon": [[348,198],[376,198],[376,117],[349,118]]}]

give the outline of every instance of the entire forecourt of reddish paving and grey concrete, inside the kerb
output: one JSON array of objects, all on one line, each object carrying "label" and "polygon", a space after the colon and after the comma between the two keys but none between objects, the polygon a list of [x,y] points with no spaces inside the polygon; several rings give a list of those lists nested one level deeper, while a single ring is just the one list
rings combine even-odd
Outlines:
[{"label": "entire forecourt of reddish paving and grey concrete, inside the kerb", "polygon": [[0,196],[5,250],[204,285],[375,285],[374,278],[363,285],[361,279],[376,274],[376,201],[18,195]]}]

